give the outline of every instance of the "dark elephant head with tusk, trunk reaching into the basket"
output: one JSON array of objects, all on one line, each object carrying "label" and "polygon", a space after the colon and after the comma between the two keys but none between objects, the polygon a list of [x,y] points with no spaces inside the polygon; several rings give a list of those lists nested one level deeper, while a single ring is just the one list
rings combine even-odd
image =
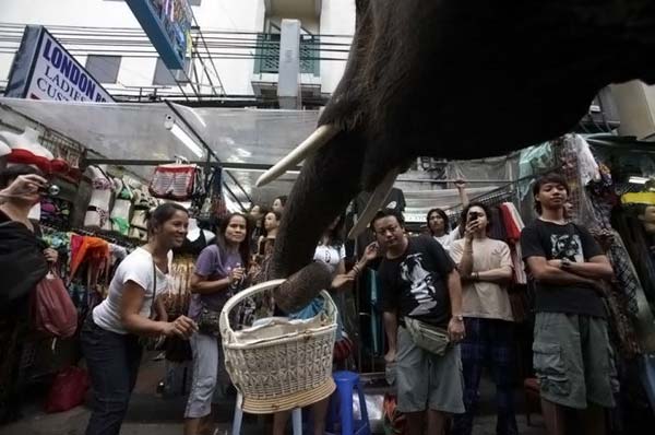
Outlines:
[{"label": "dark elephant head with tusk, trunk reaching into the basket", "polygon": [[329,285],[325,268],[307,264],[359,191],[390,188],[419,155],[478,158],[552,139],[602,87],[655,82],[648,0],[357,0],[356,13],[317,131],[260,179],[307,158],[269,274],[290,277],[276,290],[287,310]]}]

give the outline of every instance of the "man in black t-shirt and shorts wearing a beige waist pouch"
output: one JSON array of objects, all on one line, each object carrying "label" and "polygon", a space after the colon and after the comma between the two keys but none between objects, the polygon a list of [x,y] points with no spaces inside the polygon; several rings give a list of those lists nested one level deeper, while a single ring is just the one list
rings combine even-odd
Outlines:
[{"label": "man in black t-shirt and shorts wearing a beige waist pouch", "polygon": [[[449,414],[464,412],[460,346],[454,344],[464,338],[460,274],[438,242],[408,238],[400,214],[381,211],[371,226],[384,252],[378,269],[389,341],[384,358],[396,366],[398,411],[407,416],[407,434],[422,433],[426,416],[427,433],[441,434]],[[443,355],[417,346],[407,317],[446,329],[453,344]]]}]

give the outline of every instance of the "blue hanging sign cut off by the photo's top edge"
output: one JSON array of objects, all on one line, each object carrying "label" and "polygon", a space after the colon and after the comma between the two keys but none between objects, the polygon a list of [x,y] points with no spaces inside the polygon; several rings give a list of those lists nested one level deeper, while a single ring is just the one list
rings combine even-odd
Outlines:
[{"label": "blue hanging sign cut off by the photo's top edge", "polygon": [[164,64],[183,70],[191,55],[193,12],[189,0],[126,0]]}]

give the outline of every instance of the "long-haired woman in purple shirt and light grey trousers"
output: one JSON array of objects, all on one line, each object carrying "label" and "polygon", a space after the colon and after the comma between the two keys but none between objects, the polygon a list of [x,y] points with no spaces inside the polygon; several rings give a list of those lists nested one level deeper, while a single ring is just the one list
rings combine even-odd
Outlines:
[{"label": "long-haired woman in purple shirt and light grey trousers", "polygon": [[[200,252],[191,278],[189,317],[199,320],[203,308],[221,313],[233,291],[245,275],[250,258],[250,225],[246,215],[233,213],[221,223],[216,244]],[[223,367],[223,350],[218,337],[203,332],[191,337],[193,350],[193,383],[184,412],[184,434],[196,435],[200,427],[211,424],[212,397]]]}]

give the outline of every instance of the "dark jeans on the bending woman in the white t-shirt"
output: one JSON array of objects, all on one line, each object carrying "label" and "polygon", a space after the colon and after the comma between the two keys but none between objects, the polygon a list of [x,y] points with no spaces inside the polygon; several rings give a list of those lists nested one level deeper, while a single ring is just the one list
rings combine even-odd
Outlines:
[{"label": "dark jeans on the bending woman in the white t-shirt", "polygon": [[86,435],[118,435],[141,363],[139,338],[107,331],[90,314],[82,327],[81,342],[94,399]]}]

